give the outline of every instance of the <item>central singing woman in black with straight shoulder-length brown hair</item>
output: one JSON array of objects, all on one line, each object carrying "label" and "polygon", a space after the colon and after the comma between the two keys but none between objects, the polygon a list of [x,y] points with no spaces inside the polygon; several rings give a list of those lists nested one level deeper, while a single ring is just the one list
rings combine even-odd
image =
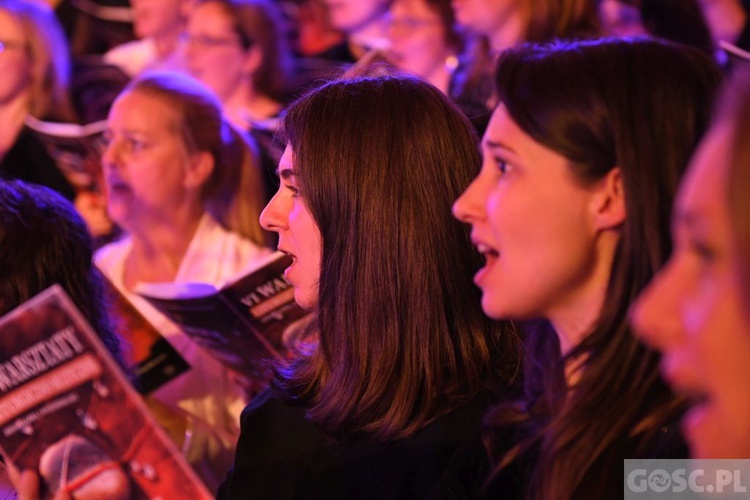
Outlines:
[{"label": "central singing woman in black with straight shoulder-length brown hair", "polygon": [[[329,83],[284,118],[261,216],[311,338],[242,416],[227,498],[425,498],[507,393],[515,332],[471,283],[450,204],[479,165],[468,120],[415,78]],[[466,274],[465,274],[466,273]]]}]

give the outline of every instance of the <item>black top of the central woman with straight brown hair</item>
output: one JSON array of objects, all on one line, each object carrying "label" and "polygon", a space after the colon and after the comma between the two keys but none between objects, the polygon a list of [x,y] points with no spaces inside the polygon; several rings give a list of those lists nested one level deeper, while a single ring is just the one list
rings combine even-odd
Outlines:
[{"label": "black top of the central woman with straight brown hair", "polygon": [[242,414],[234,468],[218,498],[431,498],[491,403],[477,396],[409,439],[379,443],[362,435],[335,442],[305,418],[304,407],[266,393]]}]

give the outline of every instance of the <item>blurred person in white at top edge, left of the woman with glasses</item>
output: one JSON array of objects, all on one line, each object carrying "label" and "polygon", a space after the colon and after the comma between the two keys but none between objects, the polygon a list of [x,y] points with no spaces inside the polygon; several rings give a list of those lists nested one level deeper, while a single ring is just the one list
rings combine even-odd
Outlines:
[{"label": "blurred person in white at top edge, left of the woman with glasses", "polygon": [[184,69],[180,35],[193,0],[131,0],[133,30],[137,40],[118,45],[104,60],[130,76],[147,69]]}]

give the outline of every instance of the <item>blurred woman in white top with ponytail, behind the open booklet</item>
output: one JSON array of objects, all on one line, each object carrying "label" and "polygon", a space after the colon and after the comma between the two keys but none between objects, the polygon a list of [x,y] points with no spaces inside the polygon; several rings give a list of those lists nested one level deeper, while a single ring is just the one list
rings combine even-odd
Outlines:
[{"label": "blurred woman in white top with ponytail, behind the open booklet", "polygon": [[135,80],[112,106],[106,136],[108,211],[126,236],[102,247],[96,264],[191,365],[152,396],[173,412],[161,423],[181,431],[178,446],[215,489],[231,464],[242,388],[133,288],[221,286],[266,255],[257,165],[210,90],[179,74]]}]

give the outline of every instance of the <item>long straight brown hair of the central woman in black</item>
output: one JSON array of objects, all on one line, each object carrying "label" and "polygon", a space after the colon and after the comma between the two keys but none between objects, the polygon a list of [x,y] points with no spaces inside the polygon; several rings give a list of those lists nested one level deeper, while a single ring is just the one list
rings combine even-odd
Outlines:
[{"label": "long straight brown hair of the central woman in black", "polygon": [[336,81],[289,108],[284,138],[323,250],[317,348],[276,388],[331,436],[392,440],[507,387],[515,331],[482,313],[451,216],[480,163],[461,112],[411,77]]}]

